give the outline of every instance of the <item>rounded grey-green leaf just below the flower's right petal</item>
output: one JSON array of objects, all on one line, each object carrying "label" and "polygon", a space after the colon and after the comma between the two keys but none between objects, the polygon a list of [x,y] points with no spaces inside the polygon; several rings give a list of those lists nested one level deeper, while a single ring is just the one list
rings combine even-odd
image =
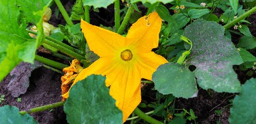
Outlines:
[{"label": "rounded grey-green leaf just below the flower's right petal", "polygon": [[173,94],[187,99],[198,91],[195,73],[180,64],[167,63],[159,66],[152,75],[152,81],[164,95]]}]

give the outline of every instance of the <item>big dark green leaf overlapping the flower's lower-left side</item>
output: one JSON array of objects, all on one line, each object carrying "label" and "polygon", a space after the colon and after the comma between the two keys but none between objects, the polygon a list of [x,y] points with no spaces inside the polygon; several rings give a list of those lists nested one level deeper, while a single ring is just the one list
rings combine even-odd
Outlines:
[{"label": "big dark green leaf overlapping the flower's lower-left side", "polygon": [[106,77],[90,75],[76,82],[64,105],[69,123],[122,123],[122,111],[109,96]]}]

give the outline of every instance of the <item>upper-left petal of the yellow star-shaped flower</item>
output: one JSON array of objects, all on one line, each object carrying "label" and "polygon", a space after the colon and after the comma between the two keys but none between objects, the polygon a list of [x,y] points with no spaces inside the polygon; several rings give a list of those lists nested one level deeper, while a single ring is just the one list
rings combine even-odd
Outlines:
[{"label": "upper-left petal of the yellow star-shaped flower", "polygon": [[81,28],[89,49],[100,57],[109,56],[125,45],[125,37],[81,20]]}]

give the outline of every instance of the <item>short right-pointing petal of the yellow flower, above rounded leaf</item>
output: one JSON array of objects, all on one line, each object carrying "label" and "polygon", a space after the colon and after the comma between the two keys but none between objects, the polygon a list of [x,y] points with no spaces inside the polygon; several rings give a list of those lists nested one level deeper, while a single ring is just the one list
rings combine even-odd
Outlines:
[{"label": "short right-pointing petal of the yellow flower, above rounded leaf", "polygon": [[139,59],[137,60],[136,67],[140,71],[142,78],[152,81],[152,74],[157,70],[157,68],[168,61],[154,52],[148,52],[143,54],[138,54]]}]

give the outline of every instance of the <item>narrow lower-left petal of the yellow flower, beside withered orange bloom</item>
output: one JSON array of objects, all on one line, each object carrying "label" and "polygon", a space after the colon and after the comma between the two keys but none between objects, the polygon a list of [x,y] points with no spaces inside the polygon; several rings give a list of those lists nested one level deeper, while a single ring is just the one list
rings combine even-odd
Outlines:
[{"label": "narrow lower-left petal of the yellow flower, beside withered orange bloom", "polygon": [[[109,63],[113,63],[113,58],[112,57],[104,57],[104,58],[99,58],[98,60],[96,60],[91,66],[89,66],[88,68],[83,69],[78,76],[76,76],[74,83],[71,85],[70,89],[72,88],[72,86],[78,82],[81,81],[83,79],[85,79],[87,76],[92,75],[92,74],[102,74],[103,72],[105,72],[106,70],[108,70],[109,68],[112,67],[111,64]],[[69,97],[69,91],[62,95],[63,98],[68,98]]]}]

